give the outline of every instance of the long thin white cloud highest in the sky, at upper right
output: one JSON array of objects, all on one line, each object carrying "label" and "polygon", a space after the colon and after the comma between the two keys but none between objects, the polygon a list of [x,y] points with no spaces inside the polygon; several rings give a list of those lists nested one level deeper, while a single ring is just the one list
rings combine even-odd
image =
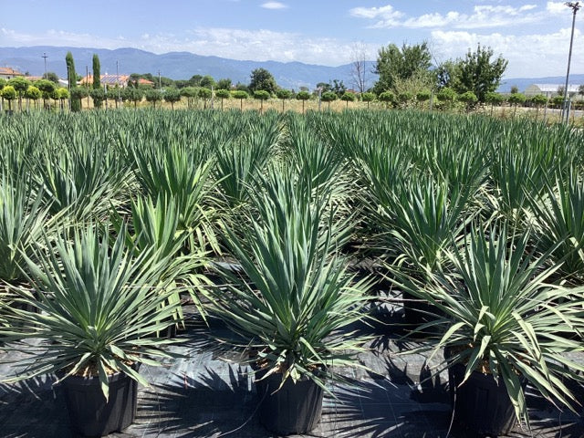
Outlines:
[{"label": "long thin white cloud highest in the sky, at upper right", "polygon": [[472,14],[462,14],[450,11],[446,14],[430,13],[422,16],[405,16],[391,5],[382,7],[355,7],[350,9],[351,16],[375,20],[371,27],[407,27],[407,28],[440,28],[454,27],[458,29],[475,29],[483,27],[516,26],[534,23],[541,20],[543,13],[530,12],[537,5],[476,5]]}]

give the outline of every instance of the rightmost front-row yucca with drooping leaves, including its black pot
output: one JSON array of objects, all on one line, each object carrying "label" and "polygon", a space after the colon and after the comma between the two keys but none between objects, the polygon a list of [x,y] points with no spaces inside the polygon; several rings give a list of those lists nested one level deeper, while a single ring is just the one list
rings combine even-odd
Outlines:
[{"label": "rightmost front-row yucca with drooping leaves, including its black pot", "polygon": [[424,326],[436,342],[424,349],[445,347],[438,370],[449,369],[454,419],[474,433],[528,424],[527,383],[549,401],[577,404],[565,380],[582,381],[584,367],[565,353],[584,348],[562,333],[581,336],[584,289],[548,282],[559,264],[547,264],[550,252],[537,255],[528,242],[527,231],[474,225],[464,248],[450,255],[452,273],[428,273],[433,281],[419,287],[394,280],[439,309]]}]

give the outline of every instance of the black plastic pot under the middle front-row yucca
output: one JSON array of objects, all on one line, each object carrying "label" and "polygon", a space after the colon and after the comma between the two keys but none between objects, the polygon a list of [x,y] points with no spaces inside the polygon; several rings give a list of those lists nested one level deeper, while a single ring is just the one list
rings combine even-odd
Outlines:
[{"label": "black plastic pot under the middle front-row yucca", "polygon": [[259,420],[264,427],[280,435],[308,433],[314,429],[322,413],[322,388],[308,378],[296,383],[287,379],[284,386],[276,391],[282,382],[282,374],[275,373],[258,380],[264,375],[264,370],[255,373],[257,395],[261,402]]}]

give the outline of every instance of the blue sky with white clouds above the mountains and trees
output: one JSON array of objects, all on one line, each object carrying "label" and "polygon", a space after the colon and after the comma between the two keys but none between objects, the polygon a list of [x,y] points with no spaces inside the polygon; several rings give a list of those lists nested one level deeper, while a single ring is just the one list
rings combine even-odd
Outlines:
[{"label": "blue sky with white clouds above the mountains and trees", "polygon": [[[580,5],[582,2],[580,2]],[[435,64],[491,47],[506,78],[566,75],[572,10],[541,0],[0,0],[0,47],[135,47],[339,66],[427,41]],[[584,73],[584,8],[571,72]]]}]

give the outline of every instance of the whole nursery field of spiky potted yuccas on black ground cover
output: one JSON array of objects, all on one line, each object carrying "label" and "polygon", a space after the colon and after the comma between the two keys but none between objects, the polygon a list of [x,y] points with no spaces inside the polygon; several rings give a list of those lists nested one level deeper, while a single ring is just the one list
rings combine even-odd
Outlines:
[{"label": "whole nursery field of spiky potted yuccas on black ground cover", "polygon": [[[459,438],[584,434],[581,130],[410,110],[40,112],[0,115],[0,157],[6,421],[23,388],[57,381],[88,436],[136,415],[151,429],[129,436],[219,436],[237,415],[259,420],[232,436],[443,437],[451,415]],[[235,376],[227,397],[214,367],[255,381]],[[204,427],[156,422],[161,393],[144,388],[171,370],[184,389],[198,373]],[[429,384],[438,413],[416,422],[404,399]],[[171,386],[167,406],[195,406]],[[380,403],[388,418],[363,407]],[[342,409],[353,422],[328,424]]]}]

